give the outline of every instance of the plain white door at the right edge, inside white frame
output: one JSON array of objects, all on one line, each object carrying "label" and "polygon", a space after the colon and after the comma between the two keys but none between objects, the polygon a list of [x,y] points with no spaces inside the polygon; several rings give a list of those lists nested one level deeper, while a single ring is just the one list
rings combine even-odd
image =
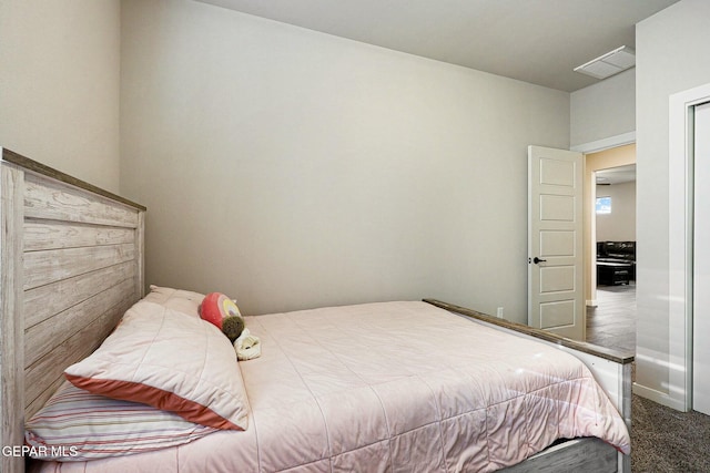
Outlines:
[{"label": "plain white door at the right edge, inside white frame", "polygon": [[710,414],[710,103],[694,122],[692,409]]}]

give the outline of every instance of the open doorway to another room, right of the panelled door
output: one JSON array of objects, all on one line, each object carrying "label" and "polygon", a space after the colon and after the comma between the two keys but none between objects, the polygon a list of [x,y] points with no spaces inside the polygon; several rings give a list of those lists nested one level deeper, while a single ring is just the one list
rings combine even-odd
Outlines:
[{"label": "open doorway to another room, right of the panelled door", "polygon": [[585,156],[586,341],[636,351],[636,145]]}]

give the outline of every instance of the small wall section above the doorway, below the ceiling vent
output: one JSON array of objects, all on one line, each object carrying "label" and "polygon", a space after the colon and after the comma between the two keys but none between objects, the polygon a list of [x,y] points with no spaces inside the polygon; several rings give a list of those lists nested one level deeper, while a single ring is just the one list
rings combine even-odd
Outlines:
[{"label": "small wall section above the doorway, below the ceiling vent", "polygon": [[636,69],[570,94],[570,145],[636,131]]}]

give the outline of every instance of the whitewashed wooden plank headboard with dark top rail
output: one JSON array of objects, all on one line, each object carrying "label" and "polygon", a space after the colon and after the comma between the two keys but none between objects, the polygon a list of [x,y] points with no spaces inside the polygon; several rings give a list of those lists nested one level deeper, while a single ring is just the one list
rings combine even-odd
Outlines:
[{"label": "whitewashed wooden plank headboard with dark top rail", "polygon": [[[63,370],[143,297],[145,207],[2,150],[0,415],[2,448],[24,443],[24,419]],[[0,471],[24,461],[3,452]]]}]

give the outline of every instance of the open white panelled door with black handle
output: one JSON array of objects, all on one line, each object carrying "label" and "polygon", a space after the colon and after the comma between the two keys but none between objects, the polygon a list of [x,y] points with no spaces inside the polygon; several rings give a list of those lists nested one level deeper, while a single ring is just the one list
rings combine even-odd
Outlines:
[{"label": "open white panelled door with black handle", "polygon": [[582,155],[528,147],[528,325],[585,339]]}]

